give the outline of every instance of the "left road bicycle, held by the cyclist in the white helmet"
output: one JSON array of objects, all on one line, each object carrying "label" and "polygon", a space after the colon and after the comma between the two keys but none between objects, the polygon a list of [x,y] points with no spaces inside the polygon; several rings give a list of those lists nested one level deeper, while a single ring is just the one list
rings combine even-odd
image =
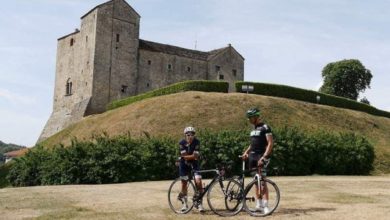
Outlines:
[{"label": "left road bicycle, held by the cyclist in the white helmet", "polygon": [[[191,168],[192,168],[192,164]],[[203,186],[202,192],[195,187],[193,169],[188,178],[177,178],[169,187],[168,203],[177,214],[186,214],[202,203],[207,194],[210,209],[220,216],[234,216],[242,210],[244,196],[243,185],[235,179],[225,178],[226,165],[218,165],[216,169],[200,170],[199,173],[214,173],[211,182]],[[186,182],[186,194],[182,192],[182,181]],[[183,208],[184,207],[184,208]]]}]

